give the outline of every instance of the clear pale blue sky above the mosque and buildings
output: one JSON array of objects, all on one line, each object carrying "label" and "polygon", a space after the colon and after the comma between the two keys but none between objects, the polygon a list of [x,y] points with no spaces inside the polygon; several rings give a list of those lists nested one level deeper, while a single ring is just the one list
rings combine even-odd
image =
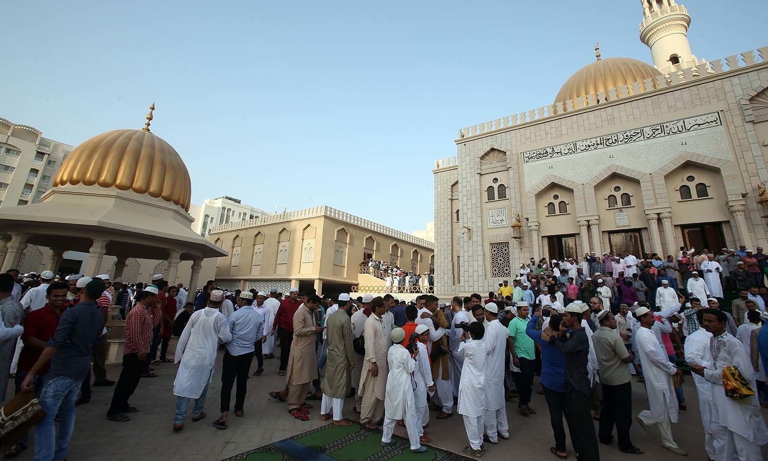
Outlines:
[{"label": "clear pale blue sky above the mosque and buildings", "polygon": [[[699,58],[768,45],[759,0],[685,0]],[[637,0],[41,2],[2,7],[0,117],[77,145],[152,131],[193,202],[321,204],[400,230],[432,221],[458,128],[549,104],[574,71],[650,62]]]}]

